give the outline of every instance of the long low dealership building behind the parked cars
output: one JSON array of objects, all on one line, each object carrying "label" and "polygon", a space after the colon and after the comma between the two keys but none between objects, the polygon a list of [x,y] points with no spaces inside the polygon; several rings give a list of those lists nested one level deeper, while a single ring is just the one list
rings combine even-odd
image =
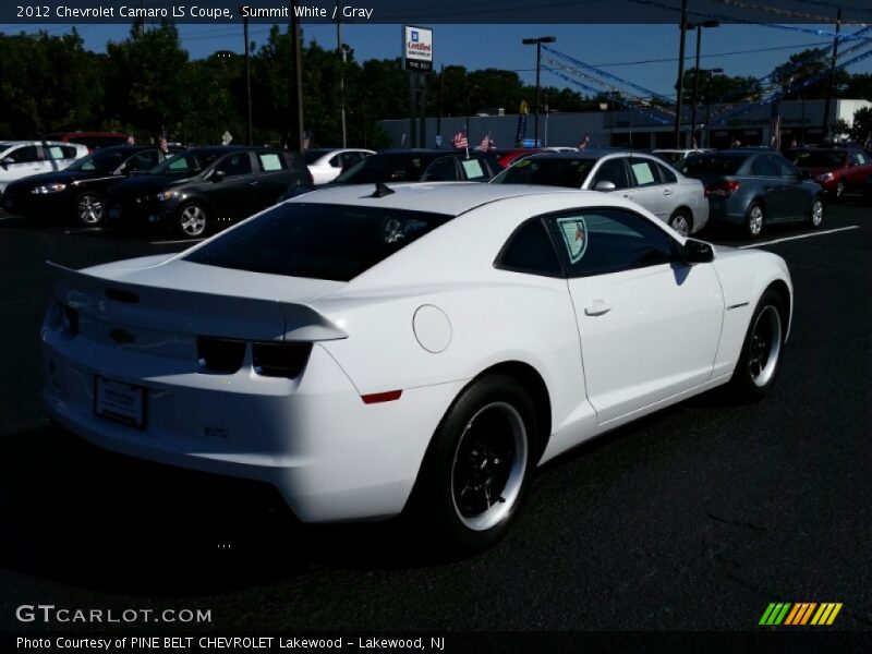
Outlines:
[{"label": "long low dealership building behind the parked cars", "polygon": [[[824,141],[823,118],[825,100],[788,100],[780,104],[782,146],[795,140],[800,143]],[[607,104],[601,111],[564,113],[550,110],[538,117],[538,136],[543,146],[578,146],[585,134],[590,147],[671,148],[675,143],[675,112],[655,107],[610,110]],[[858,109],[872,107],[868,100],[834,99],[829,102],[829,132],[837,121],[848,125],[853,122]],[[691,125],[695,122],[700,147],[725,148],[738,141],[741,145],[770,145],[776,121],[772,105],[698,105],[695,121],[693,108],[682,110],[682,147],[690,147]],[[470,147],[475,147],[487,134],[497,147],[512,147],[518,134],[518,114],[505,113],[502,109],[483,109],[476,116],[427,118],[422,130],[421,121],[410,119],[380,121],[391,138],[392,147],[451,148],[451,137],[468,130]],[[525,137],[534,136],[535,117],[526,119]],[[437,128],[439,131],[437,131]],[[437,138],[441,133],[441,137]],[[423,134],[423,140],[422,140]],[[840,135],[837,135],[840,136]]]}]

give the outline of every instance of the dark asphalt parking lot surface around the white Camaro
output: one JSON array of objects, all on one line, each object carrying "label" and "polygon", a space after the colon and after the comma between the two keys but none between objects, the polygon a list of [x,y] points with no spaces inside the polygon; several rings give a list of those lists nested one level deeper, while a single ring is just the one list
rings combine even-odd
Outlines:
[{"label": "dark asphalt parking lot surface around the white Camaro", "polygon": [[872,630],[872,207],[761,238],[796,288],[765,401],[706,395],[560,457],[509,537],[464,560],[421,554],[390,525],[295,525],[261,488],[49,426],[43,262],[183,246],[0,214],[0,630],[28,628],[14,618],[25,602],[367,631],[750,630],[771,602],[838,602],[838,628]]}]

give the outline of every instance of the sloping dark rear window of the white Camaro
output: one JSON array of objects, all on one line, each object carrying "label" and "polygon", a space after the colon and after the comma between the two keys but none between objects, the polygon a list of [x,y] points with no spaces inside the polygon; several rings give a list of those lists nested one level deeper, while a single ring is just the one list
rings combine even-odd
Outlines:
[{"label": "sloping dark rear window of the white Camaro", "polygon": [[349,281],[451,218],[382,207],[284,203],[184,258],[252,272]]}]

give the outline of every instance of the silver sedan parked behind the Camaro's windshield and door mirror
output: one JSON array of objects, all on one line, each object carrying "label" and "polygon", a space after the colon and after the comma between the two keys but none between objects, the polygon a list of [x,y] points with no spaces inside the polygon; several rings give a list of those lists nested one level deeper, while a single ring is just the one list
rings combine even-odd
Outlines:
[{"label": "silver sedan parked behind the Camaro's windshield and door mirror", "polygon": [[496,178],[494,184],[543,184],[615,192],[639,203],[682,235],[708,220],[702,183],[665,161],[635,152],[585,150],[531,155]]}]

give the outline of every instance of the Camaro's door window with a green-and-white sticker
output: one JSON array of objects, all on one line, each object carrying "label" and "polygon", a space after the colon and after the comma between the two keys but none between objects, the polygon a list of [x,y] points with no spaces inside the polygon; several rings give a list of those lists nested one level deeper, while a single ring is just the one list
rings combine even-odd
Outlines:
[{"label": "Camaro's door window with a green-and-white sticker", "polygon": [[547,217],[570,277],[591,277],[668,264],[673,241],[626,209],[579,209]]}]

